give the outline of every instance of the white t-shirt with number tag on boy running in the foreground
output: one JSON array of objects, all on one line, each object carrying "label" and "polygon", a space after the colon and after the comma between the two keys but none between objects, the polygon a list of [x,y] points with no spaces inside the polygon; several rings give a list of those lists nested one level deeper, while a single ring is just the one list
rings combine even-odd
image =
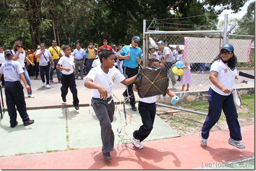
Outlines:
[{"label": "white t-shirt with number tag on boy running in the foreground", "polygon": [[[125,77],[121,74],[121,72],[113,67],[109,69],[108,74],[103,72],[103,70],[100,68],[100,66],[97,66],[90,70],[88,75],[85,78],[90,78],[92,81],[96,84],[102,85],[106,90],[108,91],[108,97],[111,96],[112,87],[114,85],[114,82],[121,82],[125,80]],[[113,81],[111,83],[111,81]],[[109,85],[111,83],[111,85]],[[92,97],[100,98],[100,93],[97,89],[92,89]]]}]

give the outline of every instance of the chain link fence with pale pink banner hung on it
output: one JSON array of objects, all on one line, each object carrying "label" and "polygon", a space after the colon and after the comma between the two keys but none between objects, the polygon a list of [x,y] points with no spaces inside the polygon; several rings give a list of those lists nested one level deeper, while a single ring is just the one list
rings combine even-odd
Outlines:
[{"label": "chain link fence with pale pink banner hung on it", "polygon": [[[241,41],[232,41],[234,39],[241,39]],[[251,41],[248,41],[251,40]],[[159,53],[159,48],[157,46],[158,41],[164,41],[165,46],[169,47],[171,51],[175,50],[175,47],[179,45],[179,49],[183,53],[184,61],[186,60],[190,66],[190,72],[192,76],[192,83],[189,84],[189,91],[208,91],[211,81],[209,80],[209,72],[211,69],[211,64],[214,59],[219,54],[219,50],[223,45],[223,35],[222,34],[147,34],[146,35],[146,46],[145,46],[145,60],[146,63],[149,58],[153,58],[153,53]],[[187,43],[186,43],[187,41]],[[189,42],[193,42],[193,46],[190,46]],[[228,43],[233,44],[235,47],[235,55],[239,54],[238,58],[238,70],[246,72],[248,74],[254,75],[254,36],[253,37],[242,37],[242,36],[229,36]],[[250,50],[244,49],[244,52],[241,48],[246,46],[245,43],[251,42],[253,46]],[[241,44],[239,44],[241,43]],[[156,52],[155,52],[156,51]],[[250,51],[250,52],[249,52]],[[158,55],[157,54],[157,55]],[[249,54],[249,55],[248,55]],[[161,57],[161,56],[160,56]],[[159,58],[159,56],[158,56]],[[159,58],[161,60],[161,58]],[[181,76],[182,77],[182,76]],[[178,80],[178,75],[175,74],[175,80]],[[172,82],[169,83],[172,87]],[[186,86],[184,90],[186,90]],[[254,87],[253,85],[245,83],[239,83],[238,80],[235,80],[235,87]],[[175,88],[172,90],[174,92],[180,91],[182,88],[182,83],[176,81]]]}]

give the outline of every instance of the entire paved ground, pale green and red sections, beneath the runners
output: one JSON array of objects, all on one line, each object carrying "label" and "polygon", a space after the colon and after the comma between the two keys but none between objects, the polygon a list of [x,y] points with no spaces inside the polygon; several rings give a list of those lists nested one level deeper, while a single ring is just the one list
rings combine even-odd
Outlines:
[{"label": "entire paved ground, pale green and red sections, beneath the runners", "polygon": [[[144,149],[137,149],[130,138],[142,122],[139,113],[133,112],[130,105],[125,105],[132,116],[131,124],[125,127],[127,135],[117,132],[122,128],[120,121],[125,123],[122,105],[117,105],[121,117],[117,110],[112,123],[115,134],[112,160],[104,161],[100,125],[95,116],[91,117],[92,108],[89,112],[88,107],[92,91],[83,86],[83,80],[76,80],[80,110],[75,110],[72,94],[69,92],[67,102],[63,103],[61,84],[56,77],[54,81],[50,88],[45,88],[41,80],[31,78],[35,98],[26,97],[25,92],[25,100],[34,124],[24,127],[18,116],[19,124],[11,128],[8,112],[0,119],[0,169],[193,169],[209,168],[206,165],[231,160],[254,163],[254,125],[241,128],[245,149],[228,144],[228,130],[211,132],[205,147],[200,145],[199,134],[179,137],[156,116],[153,131],[143,142]],[[114,85],[115,102],[123,99],[124,90],[124,85]],[[135,97],[137,101],[138,95]],[[6,107],[5,96],[4,104]],[[244,160],[245,157],[252,157],[253,162]],[[245,168],[254,169],[254,165]]]}]

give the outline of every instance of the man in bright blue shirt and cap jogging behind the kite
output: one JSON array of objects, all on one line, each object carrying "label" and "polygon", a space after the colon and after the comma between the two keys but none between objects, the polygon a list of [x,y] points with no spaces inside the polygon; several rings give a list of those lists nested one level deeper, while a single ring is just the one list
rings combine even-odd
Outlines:
[{"label": "man in bright blue shirt and cap jogging behind the kite", "polygon": [[[126,79],[138,74],[139,63],[142,61],[142,50],[138,47],[140,43],[139,36],[134,36],[131,39],[131,44],[122,47],[119,52],[118,59],[124,59],[123,71]],[[130,98],[130,105],[133,111],[137,111],[135,107],[135,96],[133,91],[133,84],[127,85],[126,90],[123,92],[123,96]]]}]

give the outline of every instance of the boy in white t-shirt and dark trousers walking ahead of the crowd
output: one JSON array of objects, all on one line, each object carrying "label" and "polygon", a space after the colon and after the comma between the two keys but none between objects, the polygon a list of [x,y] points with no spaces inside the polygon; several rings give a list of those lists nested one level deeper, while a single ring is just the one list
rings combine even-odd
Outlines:
[{"label": "boy in white t-shirt and dark trousers walking ahead of the crowd", "polygon": [[[77,89],[75,84],[75,63],[74,57],[71,55],[71,49],[69,45],[64,45],[62,47],[64,52],[64,56],[60,58],[58,64],[56,66],[57,69],[61,69],[61,97],[62,101],[66,102],[66,96],[68,92],[68,88],[70,88],[71,93],[73,94],[73,105],[75,110],[79,110],[78,104],[79,99],[77,97]],[[62,65],[62,66],[61,66]]]}]

